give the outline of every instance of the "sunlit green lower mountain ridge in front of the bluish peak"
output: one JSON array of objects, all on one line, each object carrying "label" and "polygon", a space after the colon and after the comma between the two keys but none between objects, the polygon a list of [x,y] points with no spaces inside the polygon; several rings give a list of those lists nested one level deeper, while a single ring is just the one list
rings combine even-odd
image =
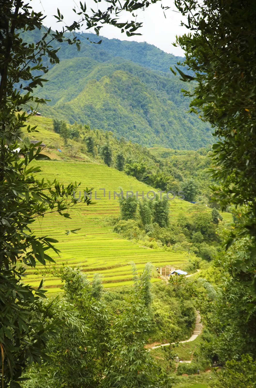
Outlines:
[{"label": "sunlit green lower mountain ridge in front of the bluish peak", "polygon": [[197,149],[212,142],[211,129],[186,113],[179,80],[131,62],[88,58],[64,60],[48,79],[40,94],[53,99],[51,108],[40,108],[47,116],[88,123],[146,146]]}]

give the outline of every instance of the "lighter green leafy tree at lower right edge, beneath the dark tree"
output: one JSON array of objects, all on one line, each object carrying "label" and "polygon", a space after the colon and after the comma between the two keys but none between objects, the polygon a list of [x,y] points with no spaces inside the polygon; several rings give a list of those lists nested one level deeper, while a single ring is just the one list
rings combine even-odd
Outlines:
[{"label": "lighter green leafy tree at lower right edge, beneath the dark tree", "polygon": [[222,251],[216,256],[215,266],[221,268],[222,278],[218,298],[211,306],[209,327],[214,335],[208,346],[210,357],[219,362],[238,360],[246,353],[255,357],[256,320],[249,244],[252,241],[248,237],[239,239],[226,253]]}]

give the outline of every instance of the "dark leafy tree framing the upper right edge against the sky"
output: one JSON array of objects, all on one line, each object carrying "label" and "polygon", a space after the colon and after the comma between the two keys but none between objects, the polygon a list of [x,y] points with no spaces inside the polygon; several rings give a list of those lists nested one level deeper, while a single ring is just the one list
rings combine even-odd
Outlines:
[{"label": "dark leafy tree framing the upper right edge against the sky", "polygon": [[[213,187],[215,197],[222,208],[230,203],[246,203],[248,217],[243,233],[255,242],[256,18],[249,11],[253,1],[199,4],[176,0],[175,5],[187,17],[187,28],[193,31],[192,35],[177,37],[176,43],[184,49],[184,65],[194,76],[176,69],[183,81],[197,81],[185,92],[193,97],[191,111],[209,121],[218,138],[213,145],[213,178],[221,188]],[[229,243],[236,238],[234,232]],[[251,253],[251,260],[255,261],[255,251]],[[255,283],[253,276],[252,282]]]}]

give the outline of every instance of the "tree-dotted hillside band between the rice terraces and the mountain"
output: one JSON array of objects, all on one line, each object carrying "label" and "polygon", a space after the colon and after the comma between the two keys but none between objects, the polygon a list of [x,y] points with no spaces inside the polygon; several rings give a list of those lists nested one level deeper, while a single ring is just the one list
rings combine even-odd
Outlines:
[{"label": "tree-dotted hillside band between the rice terraces and the mountain", "polygon": [[[177,197],[179,192],[184,191],[186,201],[219,208],[212,201],[209,188],[209,183],[213,184],[209,174],[210,147],[200,148],[198,151],[146,149],[131,141],[127,142],[124,138],[118,140],[111,131],[92,130],[88,125],[66,125],[64,121],[40,117],[31,118],[29,123],[38,125],[39,138],[47,144],[49,151],[54,152],[54,158],[67,160],[76,156],[78,160],[96,160],[125,171],[127,175],[155,189],[174,191]],[[63,133],[60,133],[61,125],[67,127],[66,140]],[[31,133],[30,138],[38,140],[38,135]],[[61,148],[61,154],[53,151],[58,148]],[[179,197],[182,198],[182,193]]]}]

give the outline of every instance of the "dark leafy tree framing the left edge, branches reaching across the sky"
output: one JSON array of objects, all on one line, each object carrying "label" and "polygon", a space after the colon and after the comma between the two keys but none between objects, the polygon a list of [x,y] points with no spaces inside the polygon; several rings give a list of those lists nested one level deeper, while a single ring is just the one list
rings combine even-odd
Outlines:
[{"label": "dark leafy tree framing the left edge, branches reaching across the sky", "polygon": [[[143,3],[147,6],[146,2]],[[110,8],[118,14],[119,11],[113,5]],[[127,5],[124,8],[132,11]],[[108,12],[97,11],[95,14],[100,17],[97,22],[94,17],[86,14],[85,5],[82,12],[83,20],[89,28],[92,26],[96,28],[98,23],[110,23],[121,27],[116,18],[110,16]],[[56,17],[58,20],[63,19],[59,10]],[[21,281],[24,275],[22,264],[34,267],[38,260],[44,265],[47,260],[52,261],[47,254],[49,249],[58,253],[52,245],[56,241],[47,236],[35,236],[30,229],[31,224],[48,211],[58,211],[60,215],[69,217],[67,210],[75,204],[72,194],[77,188],[73,184],[65,188],[56,181],[45,183],[34,178],[33,175],[39,172],[40,168],[36,165],[31,166],[31,161],[48,159],[47,156],[40,154],[40,147],[36,149],[34,145],[30,145],[29,149],[23,147],[20,153],[12,152],[17,148],[16,140],[21,137],[26,126],[24,123],[33,114],[26,115],[22,112],[24,106],[44,102],[32,94],[34,88],[42,87],[46,81],[41,76],[48,71],[47,64],[43,63],[43,57],[47,56],[50,64],[59,62],[58,48],[54,48],[50,42],[66,41],[79,47],[76,36],[70,39],[69,34],[65,35],[66,31],[72,32],[79,28],[76,22],[66,26],[66,31],[63,29],[53,33],[51,29],[45,29],[36,43],[24,42],[24,33],[41,29],[43,19],[41,12],[32,11],[29,3],[22,0],[7,0],[1,4],[0,373],[3,387],[18,387],[24,368],[32,362],[40,364],[42,359],[46,359],[46,342],[57,329],[54,322],[48,324],[45,320],[51,313],[41,308],[40,298],[44,296],[42,284],[35,291]],[[135,34],[134,31],[139,28],[140,23],[127,22],[125,26],[127,34],[131,36]],[[96,31],[98,32],[98,29]],[[28,132],[35,129],[27,126]],[[64,132],[66,131],[63,130],[66,143],[68,136],[64,135]],[[9,144],[8,148],[5,147],[6,144]],[[25,154],[23,159],[20,158],[21,154]],[[89,204],[88,198],[86,202]]]}]

